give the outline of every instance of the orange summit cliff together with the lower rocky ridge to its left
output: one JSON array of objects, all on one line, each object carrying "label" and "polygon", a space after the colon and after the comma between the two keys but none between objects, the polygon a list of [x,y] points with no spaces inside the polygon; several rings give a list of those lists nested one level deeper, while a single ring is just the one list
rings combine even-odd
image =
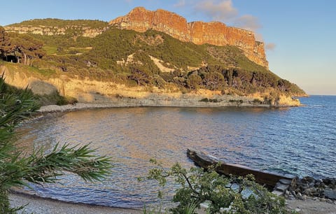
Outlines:
[{"label": "orange summit cliff together with the lower rocky ridge to its left", "polygon": [[[222,22],[187,22],[186,18],[167,10],[155,11],[137,7],[125,16],[117,17],[109,23],[92,20],[50,20],[53,25],[38,24],[41,20],[29,20],[5,27],[8,32],[19,34],[38,34],[44,36],[84,36],[94,38],[110,27],[145,32],[148,29],[162,31],[183,42],[197,45],[205,43],[217,46],[233,45],[243,50],[252,62],[268,68],[264,43],[255,40],[252,31],[228,27]],[[62,25],[59,24],[62,23]],[[90,22],[99,22],[98,27]],[[59,26],[57,26],[57,24]]]}]

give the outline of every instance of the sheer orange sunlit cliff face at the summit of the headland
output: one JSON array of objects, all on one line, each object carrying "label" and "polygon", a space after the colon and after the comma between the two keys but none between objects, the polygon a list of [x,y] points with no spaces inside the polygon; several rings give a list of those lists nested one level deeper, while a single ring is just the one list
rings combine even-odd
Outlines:
[{"label": "sheer orange sunlit cliff face at the summit of the headland", "polygon": [[236,27],[227,27],[221,22],[190,22],[184,17],[166,10],[146,10],[134,8],[125,16],[117,17],[109,22],[120,29],[132,29],[144,32],[148,29],[162,31],[184,42],[197,45],[235,45],[244,51],[251,61],[268,67],[264,44],[255,41],[253,32]]}]

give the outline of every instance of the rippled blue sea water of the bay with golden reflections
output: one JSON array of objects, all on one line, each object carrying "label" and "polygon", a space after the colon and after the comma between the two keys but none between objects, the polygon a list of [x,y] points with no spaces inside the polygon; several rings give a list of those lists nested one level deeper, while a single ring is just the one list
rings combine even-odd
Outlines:
[{"label": "rippled blue sea water of the bay with golden reflections", "polygon": [[[155,158],[165,167],[193,166],[187,148],[225,162],[316,178],[336,177],[336,97],[300,99],[300,108],[111,108],[45,116],[18,129],[19,143],[98,148],[114,159],[111,176],[84,183],[67,174],[35,186],[43,197],[104,206],[142,207],[157,199],[155,182],[139,183]],[[168,190],[174,189],[172,186]]]}]

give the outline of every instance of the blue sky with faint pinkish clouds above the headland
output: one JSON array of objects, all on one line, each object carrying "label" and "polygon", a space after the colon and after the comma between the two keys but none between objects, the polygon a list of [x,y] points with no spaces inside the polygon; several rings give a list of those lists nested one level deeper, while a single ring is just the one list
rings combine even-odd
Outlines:
[{"label": "blue sky with faint pinkish clouds above the headland", "polygon": [[272,72],[307,94],[336,95],[334,0],[16,0],[1,2],[0,25],[47,17],[110,21],[137,6],[249,29],[265,43]]}]

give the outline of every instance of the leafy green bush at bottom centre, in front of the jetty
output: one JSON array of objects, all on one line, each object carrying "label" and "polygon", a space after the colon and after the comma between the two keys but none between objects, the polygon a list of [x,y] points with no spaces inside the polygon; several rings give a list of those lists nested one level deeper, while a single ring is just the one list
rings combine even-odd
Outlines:
[{"label": "leafy green bush at bottom centre, in front of the jetty", "polygon": [[[245,178],[221,176],[214,169],[205,171],[200,168],[184,169],[174,164],[171,169],[164,169],[156,160],[151,160],[158,167],[151,169],[149,179],[158,180],[164,187],[169,178],[179,184],[173,202],[177,206],[171,208],[172,213],[195,213],[200,204],[209,202],[209,213],[290,213],[286,210],[283,197],[276,197],[265,187],[255,183],[253,176]],[[215,166],[216,167],[216,166]],[[250,192],[250,194],[248,194]],[[162,196],[162,192],[159,194]]]}]

